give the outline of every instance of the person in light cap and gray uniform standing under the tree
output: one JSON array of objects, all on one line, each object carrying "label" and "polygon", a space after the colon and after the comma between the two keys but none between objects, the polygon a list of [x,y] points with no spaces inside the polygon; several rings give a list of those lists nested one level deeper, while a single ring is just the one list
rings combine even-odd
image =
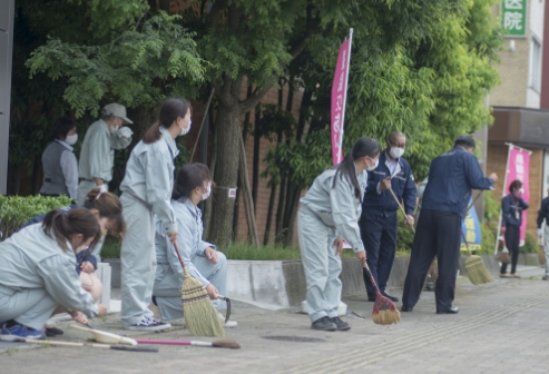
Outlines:
[{"label": "person in light cap and gray uniform standing under the tree", "polygon": [[108,190],[112,179],[115,149],[124,149],[131,142],[133,131],[121,127],[124,124],[134,122],[126,117],[126,107],[114,102],[101,109],[101,118],[86,132],[78,169],[78,205],[84,205],[86,195],[96,187],[105,193]]}]

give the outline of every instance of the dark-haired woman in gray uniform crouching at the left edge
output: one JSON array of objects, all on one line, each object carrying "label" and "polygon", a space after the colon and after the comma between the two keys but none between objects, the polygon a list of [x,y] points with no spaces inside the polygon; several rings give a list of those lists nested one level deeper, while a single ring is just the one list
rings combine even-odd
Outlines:
[{"label": "dark-haired woman in gray uniform crouching at the left edge", "polygon": [[58,305],[88,317],[107,313],[81,287],[75,272],[75,254],[99,236],[94,214],[77,208],[68,214],[52,210],[41,225],[28,226],[0,243],[0,339],[42,338],[41,329]]}]

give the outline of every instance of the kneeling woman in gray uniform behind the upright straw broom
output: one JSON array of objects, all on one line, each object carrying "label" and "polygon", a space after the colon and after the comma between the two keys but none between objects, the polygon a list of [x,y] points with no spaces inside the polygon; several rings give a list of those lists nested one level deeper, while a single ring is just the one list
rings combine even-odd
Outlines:
[{"label": "kneeling woman in gray uniform behind the upright straw broom", "polygon": [[[202,282],[217,309],[226,308],[226,303],[217,295],[227,295],[227,258],[216,250],[215,245],[202,240],[204,230],[198,203],[206,200],[212,193],[212,176],[203,164],[188,164],[177,173],[171,195],[171,206],[176,215],[179,235],[177,245],[189,274]],[[182,286],[185,279],[183,267],[163,223],[156,225],[156,278],[153,288],[153,303],[158,306],[163,321],[183,318]],[[225,319],[219,314],[222,319]],[[236,322],[227,322],[225,327],[235,327]]]}]

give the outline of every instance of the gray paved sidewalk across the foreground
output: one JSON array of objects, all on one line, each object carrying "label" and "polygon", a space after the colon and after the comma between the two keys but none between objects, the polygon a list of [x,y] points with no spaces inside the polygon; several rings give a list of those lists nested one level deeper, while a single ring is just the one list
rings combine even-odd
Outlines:
[{"label": "gray paved sidewalk across the foreground", "polygon": [[[324,333],[312,331],[308,317],[295,311],[234,303],[232,319],[238,321],[238,327],[227,329],[225,338],[237,341],[238,351],[159,346],[154,354],[22,345],[0,354],[0,373],[546,373],[549,282],[540,280],[542,272],[530,270],[522,279],[498,278],[481,286],[460,278],[458,315],[437,315],[434,294],[424,292],[399,325],[378,326],[370,318],[347,316],[350,332]],[[344,302],[349,312],[361,314],[373,306],[363,296]],[[68,328],[69,324],[57,324],[66,334],[56,339],[89,337]],[[149,335],[119,329],[118,315],[94,324],[134,337],[200,339],[182,323]],[[306,338],[313,342],[298,342]]]}]

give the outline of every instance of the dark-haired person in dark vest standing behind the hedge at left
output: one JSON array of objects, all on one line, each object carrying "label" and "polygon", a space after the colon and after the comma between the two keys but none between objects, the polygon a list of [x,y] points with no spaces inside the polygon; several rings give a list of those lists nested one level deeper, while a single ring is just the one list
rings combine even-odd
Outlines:
[{"label": "dark-haired person in dark vest standing behind the hedge at left", "polygon": [[77,198],[78,161],[72,146],[78,140],[76,124],[68,117],[58,118],[53,122],[53,137],[42,154],[43,185],[40,195],[67,195]]}]

